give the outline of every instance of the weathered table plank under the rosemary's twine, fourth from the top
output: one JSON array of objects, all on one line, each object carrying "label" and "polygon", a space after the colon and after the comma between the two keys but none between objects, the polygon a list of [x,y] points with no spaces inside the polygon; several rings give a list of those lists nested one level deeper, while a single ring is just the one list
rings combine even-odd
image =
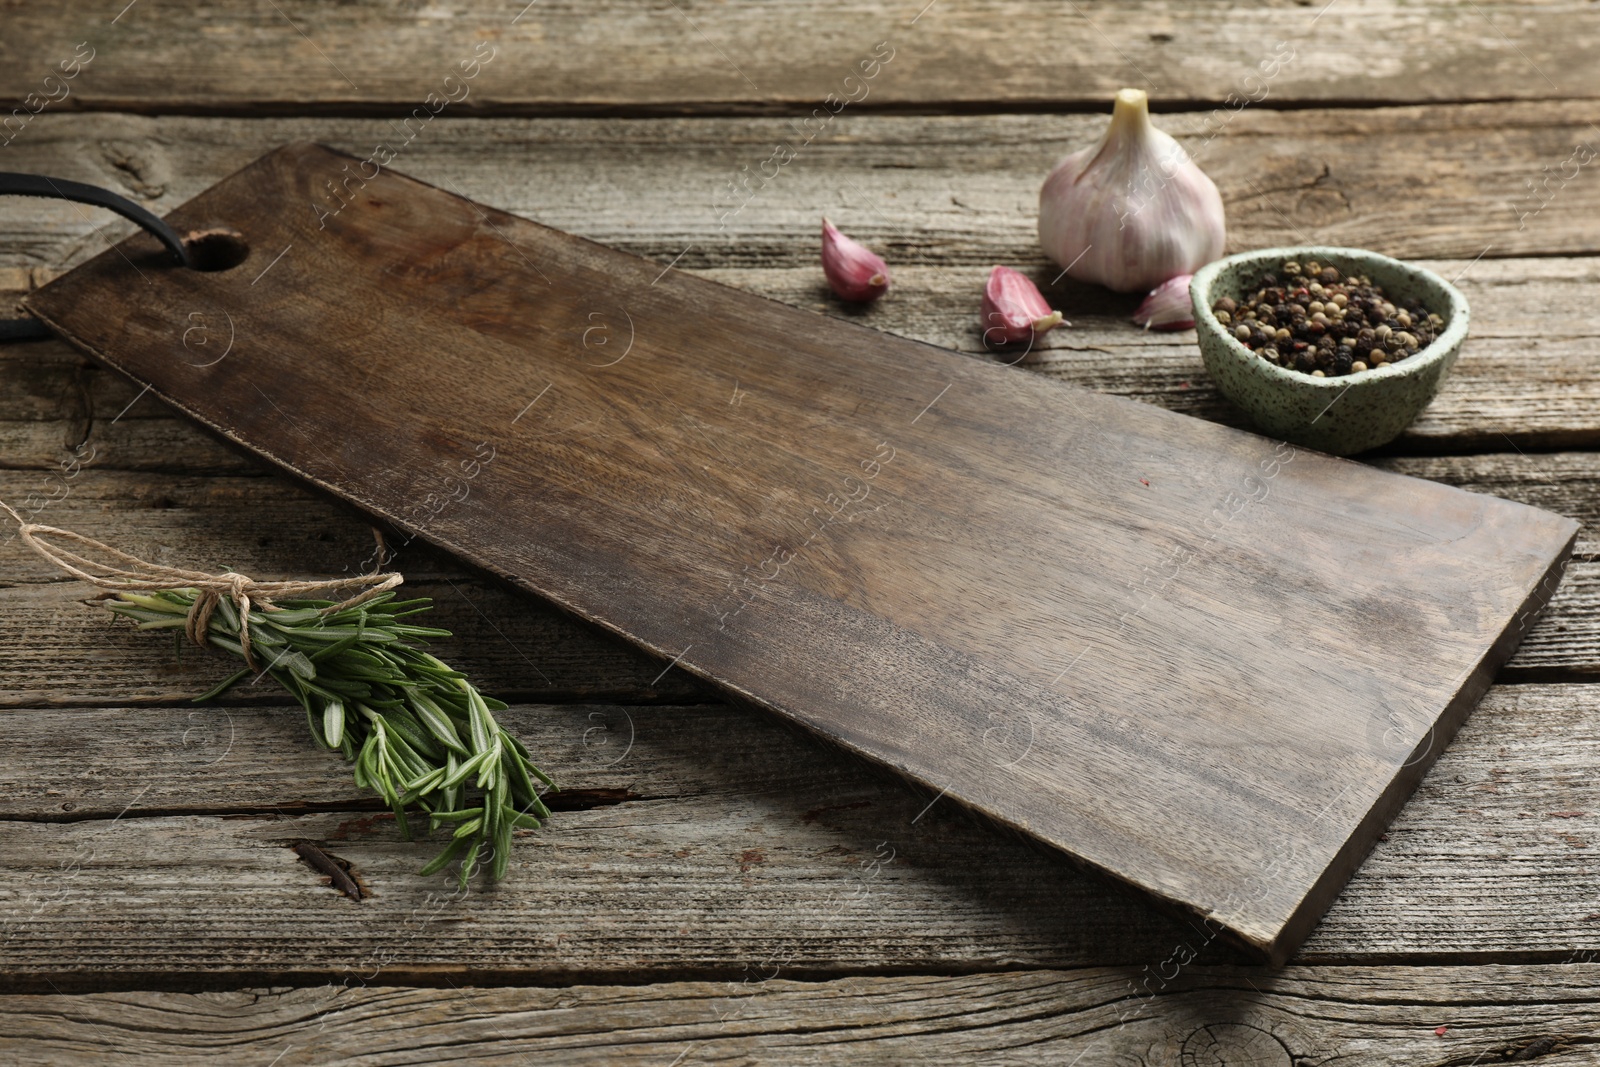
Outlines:
[{"label": "weathered table plank under the rosemary's twine, fourth from the top", "polygon": [[[171,419],[144,419],[176,429]],[[54,424],[42,424],[54,426]],[[91,437],[91,442],[99,438]],[[179,435],[176,442],[182,442]],[[62,453],[70,459],[70,453]],[[96,454],[91,462],[102,462]],[[1435,477],[1573,515],[1592,530],[1600,494],[1589,485],[1600,459],[1586,453],[1517,453],[1382,461],[1403,474]],[[48,498],[64,494],[58,501]],[[371,530],[342,507],[278,477],[190,477],[83,469],[3,470],[0,499],[37,522],[77,530],[178,566],[235,566],[258,577],[341,574],[370,566]],[[32,504],[46,504],[37,514]],[[1592,553],[1595,534],[1581,534]],[[437,601],[438,625],[456,638],[443,654],[488,691],[533,699],[715,699],[680,670],[629,649],[530,597],[469,576],[424,545],[398,547],[394,563],[406,589]],[[86,585],[59,574],[11,531],[0,533],[0,705],[160,704],[184,701],[229,670],[200,649],[115,624],[80,601]],[[1528,632],[1507,678],[1578,678],[1600,673],[1600,565],[1579,558],[1554,603]],[[659,675],[659,677],[658,677]]]}]

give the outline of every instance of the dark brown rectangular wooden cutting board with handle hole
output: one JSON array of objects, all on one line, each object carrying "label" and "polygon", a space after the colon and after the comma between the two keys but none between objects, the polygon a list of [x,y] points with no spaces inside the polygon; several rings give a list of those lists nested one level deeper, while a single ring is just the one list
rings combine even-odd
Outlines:
[{"label": "dark brown rectangular wooden cutting board with handle hole", "polygon": [[238,230],[238,266],[141,234],[27,306],[286,470],[1274,961],[1578,530],[371,173],[285,147],[168,216]]}]

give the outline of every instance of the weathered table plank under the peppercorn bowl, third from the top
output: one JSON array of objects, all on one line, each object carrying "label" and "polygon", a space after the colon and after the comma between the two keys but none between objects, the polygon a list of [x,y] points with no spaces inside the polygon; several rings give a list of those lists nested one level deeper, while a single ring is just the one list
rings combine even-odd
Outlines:
[{"label": "weathered table plank under the peppercorn bowl, third from the top", "polygon": [[[451,179],[454,181],[454,179]],[[960,256],[960,251],[952,251]],[[670,259],[670,256],[667,256]],[[1424,261],[1446,278],[1459,278],[1474,307],[1472,336],[1462,362],[1440,397],[1400,438],[1400,451],[1512,453],[1600,442],[1594,411],[1600,406],[1600,357],[1595,355],[1590,298],[1600,283],[1592,259]],[[886,333],[925,341],[994,363],[982,349],[973,296],[986,267],[898,267],[893,299],[866,312],[843,307],[822,286],[816,264],[803,267],[707,267],[701,277],[723,282],[795,307]],[[45,275],[46,272],[37,272]],[[53,272],[48,277],[56,277]],[[42,277],[43,280],[43,277]],[[1040,277],[1048,283],[1048,277]],[[1048,288],[1048,285],[1046,285]],[[1070,330],[1048,334],[1030,371],[1133,397],[1184,414],[1248,427],[1248,419],[1221,398],[1200,365],[1192,333],[1158,334],[1133,328],[1131,298],[1091,296],[1088,290],[1058,296]],[[1541,334],[1544,330],[1547,333]],[[1528,339],[1538,336],[1538,344]],[[62,448],[85,440],[114,466],[208,470],[253,469],[218,450],[202,432],[163,440],[146,419],[170,410],[154,398],[138,400],[118,374],[78,370],[82,357],[64,344],[13,347],[0,352],[13,390],[0,397],[0,442],[8,466],[50,467],[66,459]],[[130,403],[133,405],[130,408]],[[62,419],[59,435],[6,421]],[[125,459],[118,459],[125,454]],[[1582,475],[1587,478],[1587,475]],[[1554,480],[1552,480],[1554,483]],[[1573,496],[1587,499],[1574,486]],[[1570,510],[1566,507],[1557,510]]]}]

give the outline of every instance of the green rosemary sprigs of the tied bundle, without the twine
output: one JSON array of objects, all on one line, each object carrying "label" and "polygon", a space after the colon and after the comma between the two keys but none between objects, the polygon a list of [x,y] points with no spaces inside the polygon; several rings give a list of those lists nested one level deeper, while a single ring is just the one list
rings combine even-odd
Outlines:
[{"label": "green rosemary sprigs of the tied bundle, without the twine", "polygon": [[[195,589],[166,589],[106,593],[104,600],[141,630],[181,632],[198,595]],[[394,597],[382,592],[338,611],[326,611],[331,600],[282,600],[272,611],[251,609],[251,656],[304,705],[317,744],[341,752],[355,765],[355,784],[382,795],[406,840],[408,809],[426,813],[430,832],[451,827],[450,845],[422,867],[424,875],[459,859],[466,886],[488,846],[490,873],[502,878],[512,832],[534,829],[550,814],[534,782],[555,784],[494,721],[506,704],[483,696],[466,675],[416,645],[450,637],[450,630],[403,621],[432,601]],[[205,638],[251,659],[229,597],[216,601]],[[251,673],[245,667],[195,702],[221,696]],[[477,795],[469,797],[470,790]]]}]

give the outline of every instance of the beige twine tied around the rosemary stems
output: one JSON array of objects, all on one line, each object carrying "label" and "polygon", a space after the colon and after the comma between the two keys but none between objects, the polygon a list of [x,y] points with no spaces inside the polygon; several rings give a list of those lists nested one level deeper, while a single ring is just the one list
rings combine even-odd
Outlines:
[{"label": "beige twine tied around the rosemary stems", "polygon": [[[373,571],[370,574],[355,574],[352,577],[277,582],[258,582],[256,579],[237,571],[224,571],[221,574],[186,571],[178,566],[165,566],[162,563],[141,560],[139,557],[130,555],[122,549],[114,549],[102,541],[85,537],[83,534],[70,530],[24,522],[22,517],[18,515],[5,501],[0,501],[0,507],[10,512],[11,518],[19,523],[18,534],[27,547],[43,557],[48,563],[56,565],[59,569],[77,579],[114,592],[194,589],[195,601],[189,606],[189,614],[184,617],[184,633],[187,633],[189,640],[195,645],[205,646],[211,614],[216,611],[216,605],[222,600],[222,597],[227,597],[234,601],[234,606],[238,608],[238,645],[245,649],[245,664],[251,670],[259,670],[254,657],[250,654],[251,605],[256,605],[262,611],[283,611],[283,608],[278,608],[274,600],[283,597],[318,598],[318,593],[333,593],[362,585],[366,587],[354,597],[328,605],[318,611],[320,614],[333,614],[334,611],[342,611],[344,608],[354,608],[365,603],[378,593],[387,592],[405,581],[405,576],[398,571]],[[69,549],[62,549],[61,545],[50,544],[48,541],[43,541],[43,536],[77,542],[120,563],[126,563],[128,566],[112,566],[110,563],[91,560]],[[104,571],[104,574],[94,574],[91,569],[85,568]]]}]

